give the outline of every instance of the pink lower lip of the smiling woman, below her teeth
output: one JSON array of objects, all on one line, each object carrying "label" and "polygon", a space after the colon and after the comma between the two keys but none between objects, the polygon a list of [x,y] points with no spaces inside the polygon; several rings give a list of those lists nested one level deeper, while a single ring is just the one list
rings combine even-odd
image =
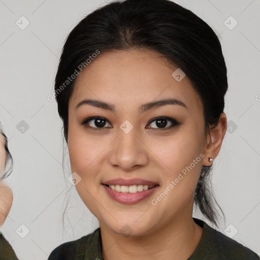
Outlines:
[{"label": "pink lower lip of the smiling woman, below her teeth", "polygon": [[138,191],[136,193],[130,193],[130,192],[118,192],[116,190],[113,190],[109,188],[108,186],[102,184],[106,191],[108,192],[109,196],[120,203],[131,205],[138,203],[140,201],[143,201],[147,199],[151,194],[159,187],[158,185],[154,186],[151,189]]}]

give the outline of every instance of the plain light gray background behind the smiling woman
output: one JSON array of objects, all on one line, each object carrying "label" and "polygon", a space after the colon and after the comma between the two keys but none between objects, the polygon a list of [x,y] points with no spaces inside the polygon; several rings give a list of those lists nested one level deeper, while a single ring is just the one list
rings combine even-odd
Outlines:
[{"label": "plain light gray background behind the smiling woman", "polygon": [[[260,1],[176,2],[204,19],[221,37],[228,67],[224,112],[229,132],[214,161],[214,192],[226,216],[220,231],[224,233],[228,226],[226,234],[260,254]],[[14,202],[1,231],[21,260],[47,259],[57,245],[99,225],[75,187],[65,181],[70,174],[69,157],[64,178],[62,124],[55,101],[49,102],[47,96],[53,92],[67,35],[85,15],[104,4],[98,0],[0,0],[0,118],[14,158],[14,170],[7,179]],[[21,16],[29,21],[23,30],[16,24],[26,24]],[[224,23],[230,16],[238,22],[233,29],[233,18]],[[23,133],[22,120],[29,127]]]}]

